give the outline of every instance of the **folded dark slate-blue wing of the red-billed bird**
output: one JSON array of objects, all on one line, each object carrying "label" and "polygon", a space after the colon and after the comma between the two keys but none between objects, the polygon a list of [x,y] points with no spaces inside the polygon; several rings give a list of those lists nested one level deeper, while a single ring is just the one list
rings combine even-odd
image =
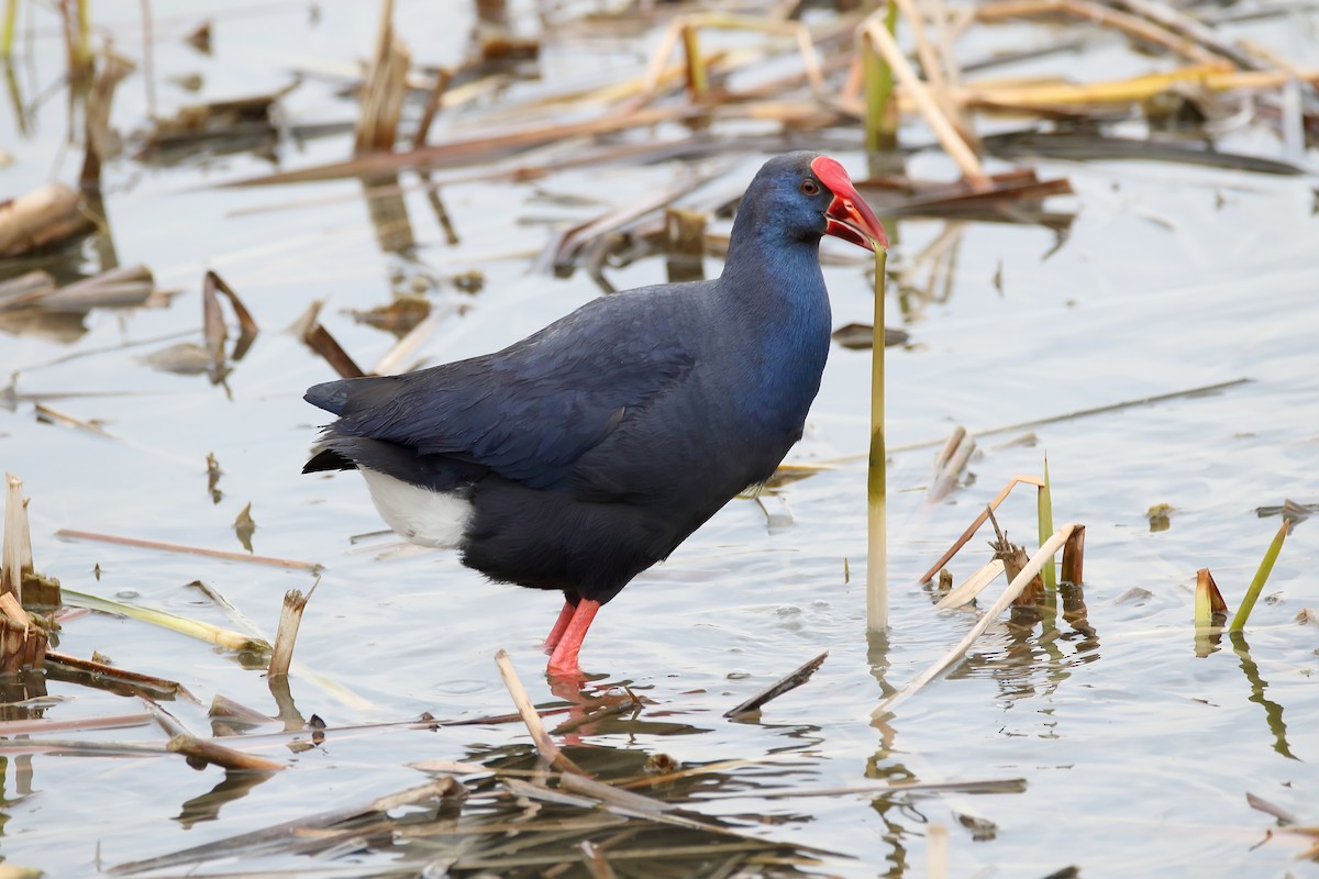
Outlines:
[{"label": "folded dark slate-blue wing of the red-billed bird", "polygon": [[385,440],[546,488],[628,410],[690,372],[681,333],[665,332],[648,312],[583,308],[493,354],[328,382],[307,399],[340,415],[330,438]]}]

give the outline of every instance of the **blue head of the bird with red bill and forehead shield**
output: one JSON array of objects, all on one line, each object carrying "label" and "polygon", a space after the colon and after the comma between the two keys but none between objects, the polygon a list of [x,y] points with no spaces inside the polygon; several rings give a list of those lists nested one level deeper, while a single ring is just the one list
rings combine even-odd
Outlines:
[{"label": "blue head of the bird with red bill and forehead shield", "polygon": [[843,166],[828,156],[789,153],[773,158],[761,167],[747,195],[764,199],[748,207],[762,217],[776,217],[790,235],[831,235],[867,250],[889,246],[874,211]]}]

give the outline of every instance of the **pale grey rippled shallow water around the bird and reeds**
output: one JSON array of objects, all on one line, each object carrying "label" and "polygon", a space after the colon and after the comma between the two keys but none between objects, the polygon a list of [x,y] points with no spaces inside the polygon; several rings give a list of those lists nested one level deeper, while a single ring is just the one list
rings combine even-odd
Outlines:
[{"label": "pale grey rippled shallow water around the bird and reeds", "polygon": [[[202,1],[170,5],[169,18],[157,22],[157,78],[202,71],[207,98],[284,84],[294,43],[298,57],[357,57],[375,26],[367,4],[319,4],[314,25],[301,4],[251,13]],[[467,25],[442,26],[427,9],[400,4],[401,29],[418,58],[451,62],[462,53]],[[98,5],[94,12],[112,29],[116,45],[137,51],[136,4]],[[216,54],[210,59],[177,40],[206,16],[216,18]],[[1301,20],[1315,24],[1312,17]],[[1314,43],[1298,46],[1281,25],[1252,25],[1249,33],[1275,38],[1297,63],[1319,62]],[[33,76],[26,82],[29,100],[37,84],[61,72],[54,37],[54,30],[34,37],[33,63],[25,69]],[[632,69],[637,63],[627,49],[633,43],[583,38],[559,45],[547,49],[543,63],[550,71],[572,70],[574,53],[579,65],[588,51],[598,53],[590,58],[625,61]],[[1086,63],[1115,50],[1095,51]],[[157,90],[162,108],[190,100],[164,82]],[[119,125],[131,128],[145,117],[144,94],[141,76],[121,86]],[[0,191],[75,173],[74,158],[51,159],[65,136],[59,104],[41,104],[34,134],[4,138],[15,161],[0,167]],[[303,121],[338,121],[353,112],[318,80],[293,92],[288,104]],[[467,121],[455,115],[438,124],[458,130]],[[1250,132],[1231,146],[1270,156],[1277,149]],[[342,137],[285,146],[281,167],[338,159],[347,150]],[[741,157],[725,179],[749,179],[762,158]],[[839,158],[861,173],[857,153]],[[1294,861],[1304,839],[1277,833],[1272,817],[1246,804],[1246,793],[1254,793],[1303,824],[1319,822],[1319,776],[1312,768],[1319,756],[1319,691],[1312,681],[1319,630],[1295,622],[1302,609],[1319,609],[1310,573],[1315,526],[1301,525],[1283,547],[1252,617],[1248,651],[1224,640],[1216,652],[1196,658],[1191,625],[1198,568],[1212,568],[1229,605],[1240,600],[1278,526],[1277,518],[1256,517],[1256,507],[1283,498],[1319,501],[1319,219],[1312,178],[1141,162],[1038,167],[1042,177],[1066,175],[1076,192],[1050,203],[1078,215],[1060,246],[1053,232],[1037,227],[968,223],[959,232],[950,294],[921,300],[911,293],[905,311],[897,297],[889,303],[889,323],[902,323],[913,336],[907,347],[889,351],[889,443],[934,443],[955,424],[984,432],[1249,381],[984,435],[971,478],[935,505],[925,502],[933,449],[894,452],[892,631],[886,639],[868,639],[863,575],[869,354],[836,348],[806,438],[790,459],[828,461],[834,469],[764,498],[772,513],[789,511],[790,525],[776,519],[770,527],[754,501],[735,501],[609,605],[592,630],[583,666],[601,676],[601,685],[628,683],[646,706],[636,717],[580,733],[580,743],[570,737],[570,754],[604,780],[636,774],[653,754],[685,766],[764,760],[712,775],[710,784],[691,791],[694,808],[760,838],[835,853],[818,866],[799,867],[813,874],[925,875],[926,834],[938,824],[950,832],[950,875],[959,876],[1043,876],[1068,865],[1086,876],[1315,875],[1312,862]],[[446,187],[445,204],[462,239],[455,246],[443,242],[426,198],[413,191],[405,203],[417,246],[406,256],[377,246],[357,182],[207,188],[268,169],[248,154],[162,169],[113,162],[107,167],[107,207],[120,264],[145,262],[162,286],[183,293],[164,310],[95,310],[71,340],[30,332],[4,336],[0,372],[18,373],[20,393],[74,393],[49,405],[103,423],[111,434],[107,439],[41,423],[29,402],[18,402],[0,420],[0,460],[24,478],[33,498],[38,568],[66,588],[232,625],[187,585],[200,580],[273,635],[284,592],[307,589],[307,572],[54,536],[58,528],[79,528],[240,551],[232,523],[251,502],[255,552],[324,565],[298,638],[302,669],[290,681],[305,717],[317,714],[336,727],[402,721],[422,712],[438,718],[508,713],[512,705],[493,662],[500,648],[512,655],[532,697],[555,704],[539,673],[538,650],[558,609],[554,596],[484,584],[451,555],[385,552],[393,546],[388,538],[352,544],[352,535],[381,527],[360,481],[298,473],[322,422],[322,414],[302,402],[302,391],[332,374],[282,329],[311,299],[326,299],[322,320],[369,365],[393,337],[355,324],[343,311],[383,304],[413,278],[425,286],[427,278],[477,268],[485,289],[475,297],[446,283],[427,289],[438,307],[459,306],[462,315],[441,324],[421,353],[441,361],[503,347],[598,294],[580,271],[551,279],[530,273],[529,258],[488,258],[536,252],[549,240],[543,227],[522,224],[522,217],[584,219],[600,210],[546,206],[533,198],[536,187],[621,203],[671,184],[682,169],[565,171],[536,187]],[[947,174],[940,158],[927,156],[917,157],[910,170]],[[303,199],[314,203],[290,207]],[[946,225],[889,221],[896,242],[890,266],[918,269],[917,254]],[[826,248],[855,253],[835,242]],[[62,268],[70,265],[79,264]],[[94,265],[87,254],[83,270]],[[200,341],[199,290],[207,268],[237,290],[262,328],[227,389],[140,361],[178,341],[179,333]],[[857,262],[826,269],[836,326],[871,319],[864,268]],[[607,274],[625,287],[662,281],[663,271],[662,261],[650,258]],[[923,274],[917,270],[914,277]],[[1034,439],[1013,441],[1026,434]],[[219,502],[207,490],[208,452],[223,469]],[[911,581],[1004,482],[1038,473],[1045,452],[1055,519],[1087,526],[1079,598],[1088,626],[1078,631],[1059,619],[1054,638],[1038,627],[996,623],[944,680],[904,702],[888,725],[872,726],[869,710],[885,689],[918,675],[973,622],[966,611],[935,613],[927,593]],[[1166,531],[1151,532],[1146,510],[1157,503],[1174,511]],[[1034,498],[1014,497],[1000,521],[1029,543]],[[979,552],[980,538],[972,546]],[[981,560],[959,556],[951,565],[955,579]],[[141,622],[90,614],[69,621],[59,642],[69,654],[100,651],[123,668],[179,680],[202,704],[175,701],[168,708],[198,734],[208,729],[204,706],[216,695],[277,712],[261,671],[245,668],[240,656]],[[830,656],[814,679],[758,718],[721,717],[824,650]],[[73,684],[50,681],[47,691],[62,700],[44,712],[50,718],[140,710],[136,700]],[[61,738],[165,741],[154,727]],[[408,766],[415,760],[532,762],[520,723],[331,731],[321,746],[298,751],[280,737],[269,742],[260,752],[290,768],[222,797],[211,812],[198,799],[233,783],[216,768],[199,772],[164,756],[11,751],[3,764],[0,854],[50,875],[88,875],[98,866],[224,839],[414,785],[423,778]],[[1024,792],[979,796],[758,793],[848,788],[872,779],[1018,778],[1025,779]],[[464,808],[480,814],[489,807]],[[992,824],[975,830],[959,820],[972,817]],[[678,845],[681,832],[670,833],[652,839]],[[579,857],[572,845],[575,838],[565,843],[563,859]],[[425,862],[422,841],[396,838],[336,859],[285,854],[244,857],[230,866],[323,868],[326,875],[343,867],[352,875]],[[661,875],[663,867],[663,859],[653,859],[649,874],[636,875]],[[489,868],[512,875],[518,867]]]}]

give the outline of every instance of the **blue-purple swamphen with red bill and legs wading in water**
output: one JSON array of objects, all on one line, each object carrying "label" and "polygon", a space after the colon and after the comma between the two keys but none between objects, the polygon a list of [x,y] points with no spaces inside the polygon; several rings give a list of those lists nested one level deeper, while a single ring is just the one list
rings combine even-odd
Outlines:
[{"label": "blue-purple swamphen with red bill and legs wading in water", "polygon": [[608,294],[503,351],[314,385],[338,418],[303,473],[356,469],[405,539],[563,593],[551,680],[596,613],[802,436],[830,348],[822,236],[888,248],[843,166],[770,158],[718,278]]}]

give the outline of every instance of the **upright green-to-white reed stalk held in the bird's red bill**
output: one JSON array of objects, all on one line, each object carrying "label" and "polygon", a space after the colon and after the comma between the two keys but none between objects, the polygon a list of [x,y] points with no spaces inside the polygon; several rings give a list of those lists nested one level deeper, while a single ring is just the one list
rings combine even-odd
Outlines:
[{"label": "upright green-to-white reed stalk held in the bird's red bill", "polygon": [[884,268],[889,252],[874,248],[874,343],[871,348],[871,461],[867,478],[865,625],[889,629],[888,453],[884,448]]}]

